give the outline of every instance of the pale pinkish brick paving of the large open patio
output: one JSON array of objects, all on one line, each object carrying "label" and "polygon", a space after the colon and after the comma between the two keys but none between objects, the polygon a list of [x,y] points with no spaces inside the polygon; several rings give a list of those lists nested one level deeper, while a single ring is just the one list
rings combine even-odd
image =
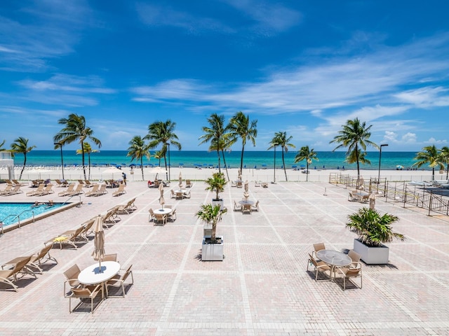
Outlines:
[{"label": "pale pinkish brick paving of the large open patio", "polygon": [[[364,265],[363,289],[349,284],[343,291],[341,281],[316,282],[306,268],[316,242],[338,251],[352,248],[355,235],[344,223],[363,204],[348,202],[347,190],[327,183],[251,183],[250,199],[260,200],[260,212],[243,215],[232,211],[243,190],[228,186],[222,196],[230,211],[217,228],[225,237],[225,260],[201,262],[203,228],[194,214],[213,196],[204,188],[194,183],[186,200],[170,199],[166,188],[166,204],[177,208],[177,220],[165,226],[148,222],[148,209],[159,208],[159,190],[130,181],[125,195],[112,197],[109,190],[82,196],[81,207],[0,237],[3,263],[137,197],[138,210],[105,231],[106,252],[118,253],[123,267],[133,264],[134,285],[126,297],[103,301],[94,314],[87,305],[69,314],[62,272],[95,262],[91,236],[76,250],[53,248],[58,265],[46,266],[37,279],[20,279],[17,293],[0,290],[0,335],[449,334],[447,221],[377,200],[377,209],[400,218],[394,230],[407,240],[389,244],[388,265]],[[1,200],[50,199],[65,200],[25,194]]]}]

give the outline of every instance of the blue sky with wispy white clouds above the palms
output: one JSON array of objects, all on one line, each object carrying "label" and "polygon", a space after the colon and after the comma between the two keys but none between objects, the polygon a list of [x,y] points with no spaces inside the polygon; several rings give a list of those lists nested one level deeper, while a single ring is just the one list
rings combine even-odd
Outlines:
[{"label": "blue sky with wispy white clouds above the palms", "polygon": [[384,151],[449,146],[448,13],[446,0],[4,0],[0,141],[53,149],[77,113],[103,150],[167,119],[182,149],[206,150],[206,118],[243,111],[257,119],[247,150],[286,131],[331,151],[356,117]]}]

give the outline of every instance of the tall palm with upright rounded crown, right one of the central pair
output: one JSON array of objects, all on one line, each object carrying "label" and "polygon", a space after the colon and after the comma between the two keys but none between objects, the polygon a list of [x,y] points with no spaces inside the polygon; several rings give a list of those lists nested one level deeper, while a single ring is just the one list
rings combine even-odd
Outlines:
[{"label": "tall palm with upright rounded crown, right one of the central pair", "polygon": [[237,138],[241,138],[240,170],[243,169],[243,151],[245,151],[246,140],[251,141],[253,146],[255,146],[255,138],[257,137],[256,127],[257,120],[250,122],[250,117],[245,116],[242,111],[237,112],[231,120],[229,120],[229,144],[235,144]]}]

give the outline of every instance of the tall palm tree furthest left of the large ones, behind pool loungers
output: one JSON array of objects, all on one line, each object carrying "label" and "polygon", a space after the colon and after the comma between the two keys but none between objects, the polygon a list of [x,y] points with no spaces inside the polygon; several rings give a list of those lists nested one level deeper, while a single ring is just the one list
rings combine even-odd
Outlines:
[{"label": "tall palm tree furthest left of the large ones, behind pool loungers", "polygon": [[69,118],[61,118],[58,120],[58,124],[65,125],[58,134],[53,137],[55,143],[60,143],[61,145],[55,145],[55,149],[58,146],[63,146],[65,144],[72,144],[74,141],[79,141],[81,144],[81,154],[83,155],[83,173],[84,179],[86,179],[86,165],[84,164],[84,141],[87,139],[91,140],[98,148],[101,147],[101,141],[93,137],[93,130],[91,127],[86,126],[86,118],[83,116],[78,116],[75,113],[69,114]]}]

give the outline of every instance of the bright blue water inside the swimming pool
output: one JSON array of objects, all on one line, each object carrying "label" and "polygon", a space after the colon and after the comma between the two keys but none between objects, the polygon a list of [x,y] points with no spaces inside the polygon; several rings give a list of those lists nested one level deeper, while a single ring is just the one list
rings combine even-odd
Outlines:
[{"label": "bright blue water inside the swimming pool", "polygon": [[47,204],[34,206],[34,203],[0,203],[0,221],[6,227],[18,223],[18,217],[11,215],[20,215],[20,222],[22,222],[27,218],[32,218],[33,214],[36,217],[37,215],[53,211],[64,205],[66,204],[55,203],[52,206],[48,206]]}]

